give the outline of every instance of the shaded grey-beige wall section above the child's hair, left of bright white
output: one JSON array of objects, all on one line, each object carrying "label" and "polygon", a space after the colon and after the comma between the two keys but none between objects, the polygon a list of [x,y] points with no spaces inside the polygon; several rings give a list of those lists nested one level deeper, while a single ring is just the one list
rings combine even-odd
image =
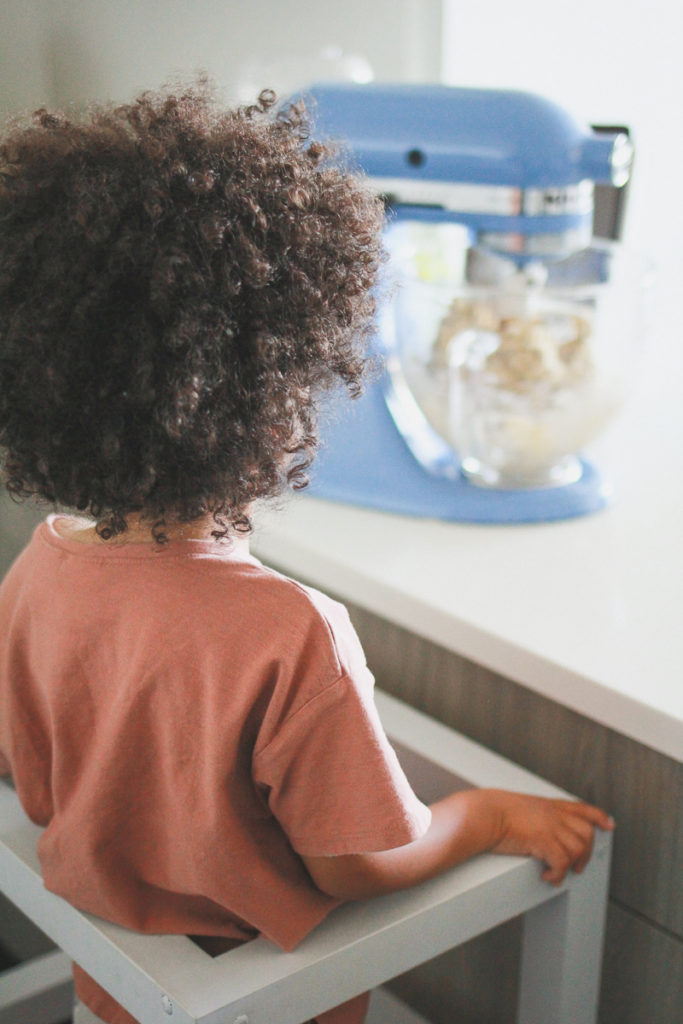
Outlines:
[{"label": "shaded grey-beige wall section above the child's hair, left of bright white", "polygon": [[202,69],[230,99],[247,78],[258,82],[257,90],[281,81],[297,87],[316,71],[311,58],[330,46],[364,56],[377,78],[435,81],[440,6],[440,0],[1,0],[0,115],[37,103],[124,101]]}]

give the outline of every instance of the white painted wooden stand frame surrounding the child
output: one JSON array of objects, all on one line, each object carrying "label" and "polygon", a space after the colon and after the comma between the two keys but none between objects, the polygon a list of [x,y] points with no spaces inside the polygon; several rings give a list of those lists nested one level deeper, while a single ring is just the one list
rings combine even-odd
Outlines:
[{"label": "white painted wooden stand frame surrounding the child", "polygon": [[[425,800],[466,785],[566,796],[387,694],[377,705]],[[301,1024],[520,913],[518,1024],[596,1020],[608,834],[598,834],[587,870],[559,889],[532,860],[487,854],[407,892],[340,907],[291,953],[257,939],[215,958],[184,936],[129,932],[47,892],[39,836],[0,783],[0,890],[142,1024]],[[0,975],[0,993],[12,973]],[[0,1014],[2,1005],[0,995]]]}]

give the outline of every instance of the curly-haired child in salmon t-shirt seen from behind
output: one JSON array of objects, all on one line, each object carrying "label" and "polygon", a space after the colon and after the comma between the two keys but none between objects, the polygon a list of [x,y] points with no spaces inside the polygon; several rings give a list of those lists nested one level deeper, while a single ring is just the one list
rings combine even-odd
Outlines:
[{"label": "curly-haired child in salmon t-shirt seen from behind", "polygon": [[378,202],[273,104],[198,85],[0,141],[6,486],[81,513],[0,589],[0,749],[48,889],[211,951],[292,949],[484,850],[558,884],[611,827],[498,791],[425,807],[344,609],[249,554],[253,503],[305,483],[321,396],[359,390],[382,263]]}]

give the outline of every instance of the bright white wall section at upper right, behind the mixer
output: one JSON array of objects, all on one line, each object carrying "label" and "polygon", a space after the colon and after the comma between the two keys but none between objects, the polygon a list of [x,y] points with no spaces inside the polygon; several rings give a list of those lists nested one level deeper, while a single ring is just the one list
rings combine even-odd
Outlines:
[{"label": "bright white wall section at upper right, behind the mixer", "polygon": [[[443,79],[543,93],[626,124],[636,160],[625,241],[657,264],[660,330],[680,324],[683,62],[677,0],[443,0]],[[672,346],[683,347],[681,330]]]}]

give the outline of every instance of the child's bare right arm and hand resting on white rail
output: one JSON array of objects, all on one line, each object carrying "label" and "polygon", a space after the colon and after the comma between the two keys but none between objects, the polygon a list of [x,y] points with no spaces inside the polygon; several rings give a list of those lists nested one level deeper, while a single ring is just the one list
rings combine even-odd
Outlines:
[{"label": "child's bare right arm and hand resting on white rail", "polygon": [[537,857],[543,878],[559,885],[581,871],[593,847],[594,826],[613,828],[597,807],[503,790],[466,790],[431,805],[432,821],[420,839],[382,853],[303,857],[323,892],[367,899],[408,889],[487,850]]}]

